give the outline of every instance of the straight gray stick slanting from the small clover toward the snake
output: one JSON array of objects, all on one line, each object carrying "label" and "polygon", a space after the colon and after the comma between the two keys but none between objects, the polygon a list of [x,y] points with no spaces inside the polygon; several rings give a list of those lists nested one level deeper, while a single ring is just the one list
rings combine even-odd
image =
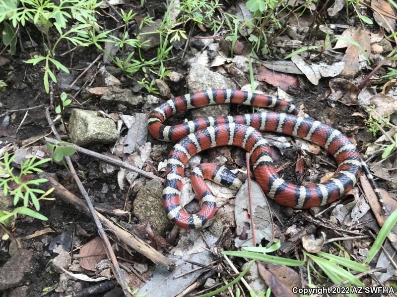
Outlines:
[{"label": "straight gray stick slanting from the small clover toward the snake", "polygon": [[[46,140],[46,142],[48,142],[50,144],[53,144],[53,145],[57,144],[57,142],[54,139],[52,139],[52,138],[45,137],[44,139]],[[105,155],[103,155],[101,153],[98,153],[96,151],[92,151],[92,150],[89,150],[89,149],[86,149],[86,148],[81,148],[81,147],[76,146],[74,144],[69,144],[69,143],[64,143],[64,142],[62,142],[61,144],[63,146],[65,146],[65,147],[74,148],[76,151],[81,152],[81,153],[83,153],[85,155],[92,156],[92,157],[100,159],[100,160],[102,160],[104,162],[119,166],[121,168],[125,168],[127,170],[131,170],[131,171],[136,172],[136,173],[139,173],[140,175],[143,175],[143,176],[145,176],[147,178],[158,179],[164,184],[164,179],[163,178],[158,177],[157,175],[154,175],[153,173],[143,171],[142,169],[139,169],[138,167],[132,166],[132,165],[128,164],[127,162],[123,162],[123,161],[120,161],[118,159],[114,159],[112,157],[105,156]]]}]

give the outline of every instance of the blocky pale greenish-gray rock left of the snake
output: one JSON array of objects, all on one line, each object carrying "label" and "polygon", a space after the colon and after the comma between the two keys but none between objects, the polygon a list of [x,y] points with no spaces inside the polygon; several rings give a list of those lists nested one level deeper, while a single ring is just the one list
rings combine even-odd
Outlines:
[{"label": "blocky pale greenish-gray rock left of the snake", "polygon": [[96,111],[77,108],[71,112],[69,132],[70,141],[80,147],[110,144],[119,138],[113,120],[98,116]]}]

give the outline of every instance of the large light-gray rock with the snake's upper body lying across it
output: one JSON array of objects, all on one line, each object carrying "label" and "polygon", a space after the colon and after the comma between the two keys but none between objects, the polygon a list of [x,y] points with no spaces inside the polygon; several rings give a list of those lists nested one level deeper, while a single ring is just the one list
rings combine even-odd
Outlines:
[{"label": "large light-gray rock with the snake's upper body lying across it", "polygon": [[[189,92],[208,89],[236,89],[236,84],[222,74],[209,70],[204,65],[193,63],[188,75]],[[209,105],[192,110],[193,118],[202,116],[228,115],[229,104]]]}]

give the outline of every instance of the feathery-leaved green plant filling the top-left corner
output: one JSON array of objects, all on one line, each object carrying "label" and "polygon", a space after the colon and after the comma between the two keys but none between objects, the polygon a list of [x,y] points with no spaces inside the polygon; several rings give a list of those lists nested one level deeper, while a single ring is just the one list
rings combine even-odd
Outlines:
[{"label": "feathery-leaved green plant filling the top-left corner", "polygon": [[[75,46],[87,46],[87,32],[85,29],[90,26],[97,26],[95,19],[95,8],[101,2],[96,0],[3,0],[0,3],[0,22],[8,20],[13,28],[26,22],[31,22],[40,28],[43,39],[44,55],[36,55],[32,59],[25,61],[36,65],[44,62],[44,87],[49,93],[49,79],[57,83],[56,69],[69,73],[69,70],[58,61],[55,56],[57,46],[61,41],[69,41]],[[66,32],[66,24],[69,20],[74,21],[74,25]],[[7,24],[7,25],[5,25]],[[4,26],[9,26],[8,22],[4,22]],[[54,44],[51,42],[49,29],[56,28],[58,37]],[[8,28],[8,27],[7,27]],[[11,31],[6,34],[10,37]],[[15,41],[14,41],[15,40]],[[3,35],[4,43],[4,35]],[[16,43],[15,34],[8,42],[10,52],[14,51],[13,45]]]}]

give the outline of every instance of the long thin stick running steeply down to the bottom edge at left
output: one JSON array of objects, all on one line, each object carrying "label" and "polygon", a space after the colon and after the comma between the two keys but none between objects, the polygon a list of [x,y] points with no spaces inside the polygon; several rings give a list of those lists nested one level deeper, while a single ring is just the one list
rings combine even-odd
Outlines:
[{"label": "long thin stick running steeply down to the bottom edge at left", "polygon": [[[46,107],[46,118],[47,118],[48,124],[51,127],[51,130],[54,133],[54,136],[58,139],[58,141],[61,141],[61,138],[60,138],[60,136],[58,134],[58,131],[55,128],[54,123],[51,120],[50,111],[49,111],[48,107]],[[117,277],[117,279],[119,281],[120,286],[123,288],[123,293],[124,293],[125,296],[130,296],[129,292],[128,292],[128,289],[127,289],[127,286],[126,286],[126,281],[124,280],[124,276],[121,273],[119,262],[117,261],[116,255],[113,252],[113,248],[110,245],[109,238],[106,235],[105,230],[103,230],[101,221],[99,220],[98,215],[96,214],[96,211],[94,209],[94,205],[92,205],[92,202],[91,202],[90,198],[88,197],[88,194],[85,191],[83,184],[81,183],[79,177],[77,176],[77,173],[74,170],[74,167],[73,167],[73,164],[71,162],[70,157],[69,156],[65,156],[65,160],[66,160],[67,166],[69,167],[70,173],[73,176],[73,179],[75,180],[75,182],[77,184],[78,189],[80,190],[81,194],[85,198],[85,201],[86,201],[86,203],[88,205],[88,208],[89,208],[89,211],[91,213],[91,216],[94,219],[95,225],[96,225],[96,227],[98,229],[98,234],[102,238],[102,243],[103,243],[103,245],[105,247],[106,253],[108,254],[108,257],[110,258],[110,260],[111,260],[111,262],[113,264],[113,269],[114,269],[114,272],[116,274],[116,277]]]}]

